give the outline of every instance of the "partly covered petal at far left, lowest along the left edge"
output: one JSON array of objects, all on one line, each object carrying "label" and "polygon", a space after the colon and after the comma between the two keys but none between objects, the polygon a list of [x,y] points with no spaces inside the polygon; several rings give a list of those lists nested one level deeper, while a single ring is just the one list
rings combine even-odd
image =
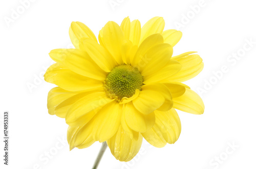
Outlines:
[{"label": "partly covered petal at far left, lowest along the left edge", "polygon": [[77,92],[70,92],[63,90],[59,87],[53,88],[48,93],[47,98],[47,108],[50,115],[55,115],[60,118],[65,118],[67,110],[55,110],[56,106],[60,104],[62,101],[65,101],[66,99],[75,96]]}]

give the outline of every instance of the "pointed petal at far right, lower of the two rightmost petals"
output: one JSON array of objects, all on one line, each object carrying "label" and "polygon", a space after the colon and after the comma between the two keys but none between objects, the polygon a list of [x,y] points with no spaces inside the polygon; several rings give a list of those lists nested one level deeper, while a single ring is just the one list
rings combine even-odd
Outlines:
[{"label": "pointed petal at far right, lower of the two rightmost petals", "polygon": [[186,91],[182,96],[173,98],[173,101],[173,107],[181,111],[196,115],[201,115],[204,112],[203,100],[196,94],[196,92],[188,88],[186,88]]}]

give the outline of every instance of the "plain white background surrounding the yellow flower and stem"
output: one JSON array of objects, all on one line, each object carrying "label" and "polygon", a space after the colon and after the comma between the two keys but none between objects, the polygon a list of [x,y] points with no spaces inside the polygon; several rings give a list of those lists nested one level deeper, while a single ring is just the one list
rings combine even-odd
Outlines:
[{"label": "plain white background surrounding the yellow flower and stem", "polygon": [[[50,50],[71,48],[68,30],[72,21],[85,23],[97,37],[107,21],[120,24],[126,16],[139,19],[142,25],[162,16],[165,30],[183,32],[174,55],[198,51],[203,58],[203,71],[185,83],[201,93],[205,112],[197,116],[178,111],[182,131],[174,145],[158,149],[144,140],[139,154],[127,163],[116,160],[107,149],[98,168],[256,168],[253,1],[113,0],[118,5],[112,8],[110,0],[31,0],[23,11],[24,1],[0,3],[1,140],[3,112],[10,112],[9,165],[3,164],[1,141],[1,168],[92,167],[101,145],[69,151],[65,120],[50,116],[46,106],[54,85],[41,76],[52,64]],[[193,12],[191,7],[198,5],[200,9]],[[15,18],[12,13],[17,10],[20,14]],[[7,18],[12,22],[7,24]],[[179,23],[183,27],[177,27]],[[226,71],[220,73],[222,67]],[[213,72],[219,72],[219,78]],[[31,84],[34,88],[29,89]]]}]

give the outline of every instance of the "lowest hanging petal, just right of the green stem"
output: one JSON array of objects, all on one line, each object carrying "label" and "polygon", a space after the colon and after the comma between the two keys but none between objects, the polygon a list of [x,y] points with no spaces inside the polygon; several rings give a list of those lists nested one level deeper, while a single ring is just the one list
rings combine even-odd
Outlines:
[{"label": "lowest hanging petal, just right of the green stem", "polygon": [[106,143],[116,159],[119,161],[130,161],[140,150],[142,136],[139,134],[137,140],[132,139],[124,132],[122,126],[120,126],[117,133],[107,140]]}]

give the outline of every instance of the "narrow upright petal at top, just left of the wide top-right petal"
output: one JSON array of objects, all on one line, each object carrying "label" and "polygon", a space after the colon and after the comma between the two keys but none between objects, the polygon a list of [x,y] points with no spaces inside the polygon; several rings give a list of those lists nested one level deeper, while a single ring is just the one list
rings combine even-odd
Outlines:
[{"label": "narrow upright petal at top, just left of the wide top-right petal", "polygon": [[134,45],[139,45],[140,42],[140,33],[141,33],[141,25],[139,20],[133,20],[131,22],[130,29],[130,41],[133,42]]}]

